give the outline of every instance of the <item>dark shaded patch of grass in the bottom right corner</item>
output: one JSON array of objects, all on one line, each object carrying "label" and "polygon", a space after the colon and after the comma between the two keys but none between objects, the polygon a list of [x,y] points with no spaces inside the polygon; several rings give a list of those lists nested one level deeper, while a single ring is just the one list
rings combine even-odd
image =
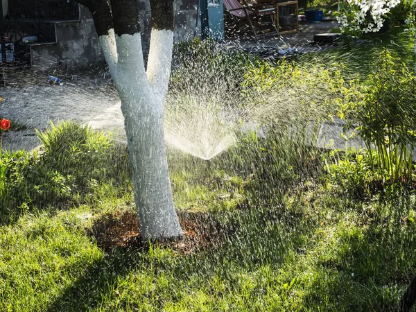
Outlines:
[{"label": "dark shaded patch of grass in the bottom right corner", "polygon": [[314,276],[303,289],[305,306],[318,305],[322,311],[401,311],[399,302],[416,266],[416,225],[403,217],[408,215],[406,200],[389,205],[361,211],[357,224],[337,225],[334,243],[321,246],[323,259],[318,257],[309,268]]}]

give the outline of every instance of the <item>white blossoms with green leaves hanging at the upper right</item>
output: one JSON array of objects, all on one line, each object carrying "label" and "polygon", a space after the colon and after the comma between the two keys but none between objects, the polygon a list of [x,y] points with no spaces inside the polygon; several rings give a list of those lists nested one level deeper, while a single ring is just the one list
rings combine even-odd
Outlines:
[{"label": "white blossoms with green leaves hanging at the upper right", "polygon": [[346,0],[338,22],[343,31],[376,33],[400,0]]}]

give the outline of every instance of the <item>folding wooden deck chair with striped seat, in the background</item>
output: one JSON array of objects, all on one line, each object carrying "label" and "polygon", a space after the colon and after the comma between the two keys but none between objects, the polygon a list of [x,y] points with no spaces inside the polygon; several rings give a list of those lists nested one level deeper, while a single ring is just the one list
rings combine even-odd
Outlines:
[{"label": "folding wooden deck chair with striped seat, in the background", "polygon": [[248,6],[245,3],[245,6],[242,6],[239,0],[223,0],[225,10],[229,12],[229,15],[232,17],[234,24],[236,24],[237,29],[240,28],[241,22],[245,22],[250,27],[254,37],[257,39],[257,32],[255,24],[253,26],[252,19],[259,19],[260,26],[263,24],[261,17],[268,16],[272,24],[273,30],[278,33],[276,28],[276,8],[267,8],[266,6]]}]

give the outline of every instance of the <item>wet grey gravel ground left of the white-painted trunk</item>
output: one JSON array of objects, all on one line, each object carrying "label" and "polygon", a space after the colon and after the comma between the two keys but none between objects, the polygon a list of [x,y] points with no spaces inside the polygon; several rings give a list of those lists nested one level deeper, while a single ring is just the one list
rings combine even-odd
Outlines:
[{"label": "wet grey gravel ground left of the white-painted trunk", "polygon": [[[39,78],[40,75],[42,78]],[[74,78],[62,76],[63,85],[51,85],[49,76],[40,73],[35,76],[33,71],[7,76],[8,84],[0,89],[3,98],[0,116],[28,128],[6,132],[3,148],[36,148],[39,141],[35,129],[45,130],[50,121],[57,124],[59,121],[74,120],[94,129],[116,132],[124,139],[124,119],[111,79],[91,73]]]}]

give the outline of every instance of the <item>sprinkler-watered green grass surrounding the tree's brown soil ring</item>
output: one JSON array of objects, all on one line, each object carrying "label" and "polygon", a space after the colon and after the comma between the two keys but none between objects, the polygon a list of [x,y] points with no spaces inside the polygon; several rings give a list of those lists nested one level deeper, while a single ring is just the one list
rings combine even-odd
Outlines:
[{"label": "sprinkler-watered green grass surrounding the tree's brown soil ring", "polygon": [[[108,184],[90,191],[86,204],[2,225],[0,310],[394,309],[416,265],[415,196],[354,197],[323,168],[309,168],[313,177],[305,170],[279,175],[272,162],[241,164],[266,146],[270,140],[247,141],[209,163],[170,154],[177,209],[209,214],[225,229],[225,239],[199,251],[153,244],[105,252],[94,224],[132,209],[131,193]],[[296,155],[268,150],[300,168]],[[302,159],[319,155],[306,149]],[[202,219],[199,226],[208,225]]]}]

